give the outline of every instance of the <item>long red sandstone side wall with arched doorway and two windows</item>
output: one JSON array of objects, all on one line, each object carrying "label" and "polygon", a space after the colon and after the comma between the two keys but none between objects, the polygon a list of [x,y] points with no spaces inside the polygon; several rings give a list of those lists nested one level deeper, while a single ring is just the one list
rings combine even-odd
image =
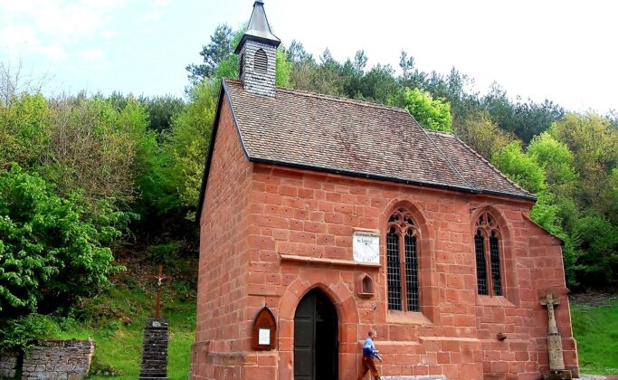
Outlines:
[{"label": "long red sandstone side wall with arched doorway and two windows", "polygon": [[[355,228],[384,234],[395,205],[407,206],[420,225],[422,314],[393,313],[385,305],[385,242],[382,268],[309,261],[281,261],[280,254],[352,260]],[[499,215],[503,228],[505,297],[476,292],[473,225],[481,208]],[[311,288],[324,290],[339,318],[339,377],[357,375],[359,340],[376,328],[385,356],[383,375],[443,374],[449,379],[535,378],[547,368],[547,312],[538,293],[554,290],[565,337],[567,365],[576,366],[559,242],[525,215],[530,207],[499,197],[345,176],[255,165],[250,221],[249,308],[268,304],[279,321],[279,350],[253,352],[246,374],[292,378],[293,318]],[[376,281],[376,296],[358,299],[355,276]],[[507,335],[500,342],[498,332]],[[248,346],[248,338],[243,347]],[[266,364],[257,366],[259,364]],[[540,363],[540,366],[539,366]]]}]

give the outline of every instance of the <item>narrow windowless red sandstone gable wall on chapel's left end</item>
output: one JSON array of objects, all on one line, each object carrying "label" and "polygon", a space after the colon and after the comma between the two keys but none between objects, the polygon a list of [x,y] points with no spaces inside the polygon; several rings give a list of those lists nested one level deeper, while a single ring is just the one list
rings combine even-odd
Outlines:
[{"label": "narrow windowless red sandstone gable wall on chapel's left end", "polygon": [[200,218],[194,379],[241,378],[252,165],[223,100]]}]

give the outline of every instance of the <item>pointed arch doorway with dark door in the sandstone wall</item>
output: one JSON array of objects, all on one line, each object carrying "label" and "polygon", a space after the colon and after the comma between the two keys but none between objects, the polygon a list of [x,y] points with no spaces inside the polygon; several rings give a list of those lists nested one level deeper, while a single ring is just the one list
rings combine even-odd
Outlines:
[{"label": "pointed arch doorway with dark door in the sandstone wall", "polygon": [[300,299],[294,315],[294,379],[338,380],[337,309],[319,289]]}]

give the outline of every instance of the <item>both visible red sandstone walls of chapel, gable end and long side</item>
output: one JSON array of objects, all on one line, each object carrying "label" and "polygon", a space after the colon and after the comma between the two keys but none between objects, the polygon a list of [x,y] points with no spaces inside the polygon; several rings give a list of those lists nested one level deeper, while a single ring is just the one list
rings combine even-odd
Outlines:
[{"label": "both visible red sandstone walls of chapel, gable end and long side", "polygon": [[[488,204],[503,233],[505,297],[499,298],[476,294],[473,225]],[[350,262],[355,228],[384,235],[398,205],[413,212],[421,232],[422,313],[386,310],[384,236],[381,268]],[[343,380],[357,376],[359,341],[368,328],[378,331],[383,375],[535,378],[547,369],[547,312],[538,304],[547,290],[562,301],[558,328],[567,367],[576,369],[559,242],[529,221],[529,207],[499,197],[253,166],[225,102],[201,217],[193,377],[291,379],[294,312],[314,287],[338,309]],[[318,261],[282,261],[280,254]],[[361,273],[375,280],[375,297],[356,296]],[[264,305],[278,318],[278,350],[256,352],[250,328]],[[498,333],[507,339],[499,341]]]}]

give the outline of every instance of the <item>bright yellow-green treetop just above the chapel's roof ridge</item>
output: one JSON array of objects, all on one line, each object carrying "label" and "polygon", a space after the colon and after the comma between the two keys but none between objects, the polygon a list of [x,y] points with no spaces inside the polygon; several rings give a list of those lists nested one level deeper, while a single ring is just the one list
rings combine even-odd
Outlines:
[{"label": "bright yellow-green treetop just above the chapel's roof ridge", "polygon": [[452,130],[451,106],[442,99],[433,99],[429,92],[405,88],[402,96],[404,97],[404,107],[407,109],[423,128],[442,130],[450,132]]}]

